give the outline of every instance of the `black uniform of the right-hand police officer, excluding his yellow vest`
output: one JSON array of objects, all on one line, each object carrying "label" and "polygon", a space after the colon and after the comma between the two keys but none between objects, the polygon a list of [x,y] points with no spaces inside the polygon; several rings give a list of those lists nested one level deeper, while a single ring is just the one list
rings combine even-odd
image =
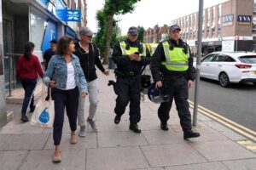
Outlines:
[{"label": "black uniform of the right-hand police officer, excluding his yellow vest", "polygon": [[183,131],[189,132],[191,131],[192,127],[188,103],[188,80],[195,79],[193,57],[190,54],[189,45],[186,42],[183,42],[183,40],[179,39],[177,42],[169,40],[168,42],[171,47],[184,48],[184,53],[189,53],[189,69],[187,71],[169,71],[166,69],[165,65],[161,65],[161,62],[166,61],[166,56],[163,44],[160,42],[153,55],[151,72],[152,76],[154,77],[154,82],[161,81],[163,83],[162,93],[169,94],[170,101],[160,104],[158,109],[158,116],[160,118],[160,122],[164,124],[164,128],[166,127],[165,130],[168,130],[166,122],[169,119],[169,112],[171,111],[172,100],[174,98]]}]

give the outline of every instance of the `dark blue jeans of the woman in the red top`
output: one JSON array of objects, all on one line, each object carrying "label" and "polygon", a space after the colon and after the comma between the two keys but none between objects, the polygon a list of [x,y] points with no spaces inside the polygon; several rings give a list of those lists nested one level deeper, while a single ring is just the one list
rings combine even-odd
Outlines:
[{"label": "dark blue jeans of the woman in the red top", "polygon": [[22,79],[21,84],[25,90],[25,97],[22,104],[21,115],[26,116],[28,105],[30,106],[30,109],[32,109],[34,106],[33,91],[36,88],[37,79]]}]

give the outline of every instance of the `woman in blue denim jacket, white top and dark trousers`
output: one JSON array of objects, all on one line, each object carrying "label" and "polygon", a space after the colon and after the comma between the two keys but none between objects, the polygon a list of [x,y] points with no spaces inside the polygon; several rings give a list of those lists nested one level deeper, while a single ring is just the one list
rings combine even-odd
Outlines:
[{"label": "woman in blue denim jacket, white top and dark trousers", "polygon": [[[74,40],[71,37],[61,37],[57,44],[56,54],[49,60],[44,82],[52,88],[52,97],[55,102],[55,121],[53,139],[55,154],[53,161],[61,161],[61,136],[64,123],[64,109],[71,129],[71,144],[78,142],[76,136],[79,96],[87,95],[87,83],[80,66],[79,58],[72,54],[75,50]],[[81,94],[79,94],[81,88]]]}]

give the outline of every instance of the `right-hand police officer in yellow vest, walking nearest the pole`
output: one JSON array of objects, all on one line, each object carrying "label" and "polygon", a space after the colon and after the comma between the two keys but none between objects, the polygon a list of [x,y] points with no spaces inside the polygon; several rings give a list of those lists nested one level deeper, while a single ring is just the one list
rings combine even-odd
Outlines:
[{"label": "right-hand police officer in yellow vest, walking nearest the pole", "polygon": [[193,58],[190,55],[189,45],[180,39],[181,28],[170,26],[170,40],[160,42],[151,61],[151,72],[155,87],[160,88],[162,94],[169,95],[169,100],[160,104],[158,116],[162,130],[168,130],[167,121],[175,100],[177,113],[183,127],[183,138],[196,138],[200,136],[192,130],[191,115],[189,112],[189,88],[195,79]]}]

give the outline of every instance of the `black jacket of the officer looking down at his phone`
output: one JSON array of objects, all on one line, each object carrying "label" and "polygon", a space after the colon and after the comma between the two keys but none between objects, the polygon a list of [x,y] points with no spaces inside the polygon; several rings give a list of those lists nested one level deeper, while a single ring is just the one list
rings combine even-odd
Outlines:
[{"label": "black jacket of the officer looking down at his phone", "polygon": [[[130,47],[142,48],[140,42],[131,42],[129,39],[125,40],[126,44]],[[129,74],[130,71],[134,72],[135,75],[141,74],[142,67],[150,64],[150,53],[147,48],[147,56],[144,56],[141,61],[131,60],[127,55],[122,55],[119,42],[117,42],[113,48],[113,62],[117,65],[117,70],[123,74]]]}]

